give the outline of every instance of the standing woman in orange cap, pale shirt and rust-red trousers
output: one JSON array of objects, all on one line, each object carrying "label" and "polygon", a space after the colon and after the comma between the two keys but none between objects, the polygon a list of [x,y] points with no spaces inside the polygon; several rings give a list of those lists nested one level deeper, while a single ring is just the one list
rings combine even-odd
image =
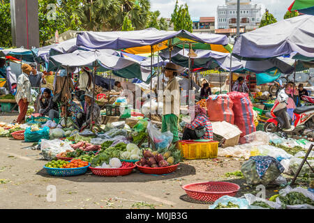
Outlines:
[{"label": "standing woman in orange cap, pale shirt and rust-red trousers", "polygon": [[19,105],[20,114],[17,117],[17,123],[25,123],[25,115],[29,102],[31,102],[31,82],[29,82],[29,75],[31,73],[31,66],[28,64],[22,65],[22,74],[17,78],[17,91],[15,100]]}]

